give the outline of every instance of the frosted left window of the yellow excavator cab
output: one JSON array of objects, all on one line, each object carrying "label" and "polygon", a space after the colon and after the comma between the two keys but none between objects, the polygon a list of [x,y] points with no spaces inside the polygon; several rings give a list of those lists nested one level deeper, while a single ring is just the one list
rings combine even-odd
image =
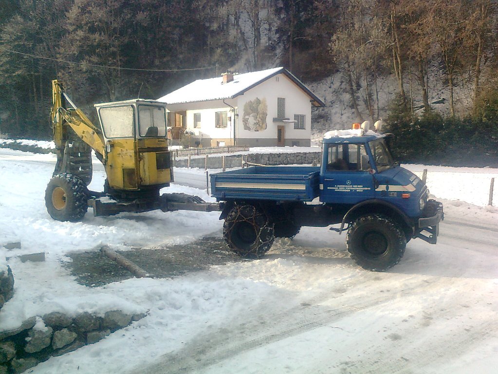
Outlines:
[{"label": "frosted left window of the yellow excavator cab", "polygon": [[133,137],[133,106],[100,108],[99,114],[106,138]]}]

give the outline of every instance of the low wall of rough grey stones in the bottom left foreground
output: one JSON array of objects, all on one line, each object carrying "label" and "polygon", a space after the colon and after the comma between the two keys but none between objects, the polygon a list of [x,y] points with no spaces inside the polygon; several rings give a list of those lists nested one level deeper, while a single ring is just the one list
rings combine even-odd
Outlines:
[{"label": "low wall of rough grey stones in the bottom left foreground", "polygon": [[22,373],[52,356],[96,343],[143,317],[119,310],[103,317],[88,312],[74,318],[59,312],[31,317],[15,330],[0,331],[0,374]]}]

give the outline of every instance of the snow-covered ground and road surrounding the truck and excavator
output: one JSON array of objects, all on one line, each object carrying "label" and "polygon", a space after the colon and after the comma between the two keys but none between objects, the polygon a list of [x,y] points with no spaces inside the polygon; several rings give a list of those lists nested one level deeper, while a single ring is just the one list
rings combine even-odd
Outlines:
[{"label": "snow-covered ground and road surrounding the truck and excavator", "polygon": [[[53,154],[0,149],[0,258],[10,257],[15,276],[0,329],[49,311],[148,315],[32,373],[496,373],[498,208],[487,204],[498,169],[403,165],[419,176],[428,169],[445,221],[438,245],[410,241],[385,273],[359,268],[344,235],[303,228],[263,259],[85,287],[62,266],[67,253],[221,237],[222,221],[181,211],[53,221],[44,190],[54,164]],[[103,185],[101,170],[92,189]],[[182,169],[165,191],[213,201],[182,186],[182,173],[205,180],[204,170]],[[1,248],[10,242],[21,249]],[[16,258],[40,251],[44,262]]]}]

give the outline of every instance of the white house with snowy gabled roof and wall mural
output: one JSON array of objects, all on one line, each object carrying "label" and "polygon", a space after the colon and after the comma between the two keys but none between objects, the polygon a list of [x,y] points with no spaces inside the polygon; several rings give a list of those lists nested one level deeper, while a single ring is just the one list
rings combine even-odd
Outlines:
[{"label": "white house with snowy gabled roof and wall mural", "polygon": [[311,107],[325,104],[284,68],[200,79],[157,99],[171,137],[202,146],[309,146]]}]

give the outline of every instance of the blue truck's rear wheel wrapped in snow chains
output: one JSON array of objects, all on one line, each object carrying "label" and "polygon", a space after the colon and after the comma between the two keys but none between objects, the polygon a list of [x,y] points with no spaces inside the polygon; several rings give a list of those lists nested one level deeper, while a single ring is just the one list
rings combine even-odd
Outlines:
[{"label": "blue truck's rear wheel wrapped in snow chains", "polygon": [[223,224],[228,247],[243,257],[259,258],[275,240],[273,224],[253,205],[236,205]]}]

